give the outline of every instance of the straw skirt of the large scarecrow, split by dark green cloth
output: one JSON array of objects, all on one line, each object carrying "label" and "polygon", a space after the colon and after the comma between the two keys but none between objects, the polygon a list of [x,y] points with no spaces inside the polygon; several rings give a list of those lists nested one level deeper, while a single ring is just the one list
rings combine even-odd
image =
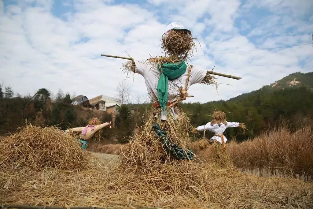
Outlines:
[{"label": "straw skirt of the large scarecrow, split by dark green cloth", "polygon": [[[161,140],[156,137],[152,125],[155,121],[154,112],[157,108],[151,108],[150,116],[145,125],[140,127],[130,138],[130,142],[121,149],[121,161],[126,165],[141,165],[152,167],[155,163],[167,163],[172,157],[167,155],[162,147]],[[168,137],[173,143],[187,150],[190,147],[189,127],[191,126],[187,116],[180,110],[177,120],[169,114],[167,121],[161,122],[160,127],[167,131]]]}]

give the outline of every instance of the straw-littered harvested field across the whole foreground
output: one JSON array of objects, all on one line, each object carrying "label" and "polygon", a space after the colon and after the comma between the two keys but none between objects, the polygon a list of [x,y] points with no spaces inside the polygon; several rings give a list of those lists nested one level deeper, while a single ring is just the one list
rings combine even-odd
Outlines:
[{"label": "straw-littered harvested field across the whole foreground", "polygon": [[[123,153],[131,154],[129,148],[125,146]],[[3,148],[0,149],[3,152]],[[86,156],[85,166],[80,168],[33,169],[27,165],[12,167],[10,162],[1,164],[0,204],[115,208],[313,207],[312,183],[243,174],[232,165],[224,167],[218,158],[208,162],[174,160],[145,167],[134,162],[122,165],[128,159],[123,154],[120,159],[116,155],[86,154],[81,150],[78,154]]]}]

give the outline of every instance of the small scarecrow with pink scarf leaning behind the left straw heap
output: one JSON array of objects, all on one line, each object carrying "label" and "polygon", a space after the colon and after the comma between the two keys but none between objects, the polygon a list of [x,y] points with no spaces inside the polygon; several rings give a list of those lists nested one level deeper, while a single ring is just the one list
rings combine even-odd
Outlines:
[{"label": "small scarecrow with pink scarf leaning behind the left straw heap", "polygon": [[80,142],[80,145],[82,149],[86,149],[87,143],[91,137],[93,137],[95,134],[98,135],[99,141],[100,141],[100,131],[102,128],[107,127],[110,125],[111,127],[111,121],[109,123],[102,123],[98,118],[92,118],[88,122],[88,125],[85,127],[77,127],[77,128],[70,128],[64,131],[65,134],[67,133],[81,133],[80,139],[78,140]]}]

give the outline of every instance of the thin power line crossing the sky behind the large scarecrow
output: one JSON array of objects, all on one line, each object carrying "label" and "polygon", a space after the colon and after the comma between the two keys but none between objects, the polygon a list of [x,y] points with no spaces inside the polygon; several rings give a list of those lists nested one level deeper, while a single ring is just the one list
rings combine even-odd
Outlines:
[{"label": "thin power line crossing the sky behind the large scarecrow", "polygon": [[[312,39],[313,39],[313,34],[312,34]],[[290,45],[290,46],[278,46],[278,47],[262,48],[262,49],[254,49],[254,50],[231,51],[231,52],[223,52],[223,53],[215,53],[215,54],[207,54],[207,55],[195,55],[192,57],[202,57],[202,56],[209,56],[209,55],[223,55],[223,54],[232,54],[232,53],[240,53],[240,52],[259,51],[259,50],[272,50],[272,49],[289,48],[289,47],[304,46],[304,45],[311,45],[311,43],[310,44],[297,44],[297,45]],[[84,70],[91,70],[91,69],[105,68],[105,67],[114,67],[114,66],[119,66],[119,65],[107,65],[107,66],[102,66],[102,67],[85,68],[85,69],[70,70],[70,71],[59,71],[59,72],[43,73],[43,74],[38,74],[38,75],[18,76],[18,77],[11,77],[11,78],[3,78],[3,80],[4,79],[33,77],[33,76],[44,76],[44,75],[64,73],[64,72],[72,72],[72,71],[84,71]]]}]

